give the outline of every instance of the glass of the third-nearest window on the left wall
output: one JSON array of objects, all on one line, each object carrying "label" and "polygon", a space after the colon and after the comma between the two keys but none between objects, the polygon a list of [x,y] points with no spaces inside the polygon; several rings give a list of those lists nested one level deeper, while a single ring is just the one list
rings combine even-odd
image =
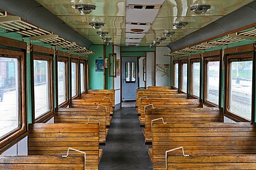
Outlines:
[{"label": "glass of the third-nearest window on the left wall", "polygon": [[58,101],[64,103],[66,97],[66,63],[58,62]]}]

